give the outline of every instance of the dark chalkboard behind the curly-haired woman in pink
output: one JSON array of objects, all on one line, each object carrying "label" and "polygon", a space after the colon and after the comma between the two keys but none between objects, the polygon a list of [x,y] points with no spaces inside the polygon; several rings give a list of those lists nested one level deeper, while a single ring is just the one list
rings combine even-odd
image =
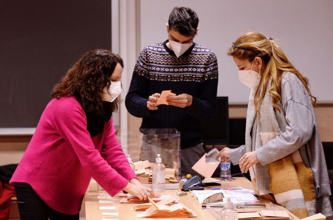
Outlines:
[{"label": "dark chalkboard behind the curly-haired woman in pink", "polygon": [[84,53],[111,49],[111,0],[0,6],[0,128],[34,128],[53,86]]}]

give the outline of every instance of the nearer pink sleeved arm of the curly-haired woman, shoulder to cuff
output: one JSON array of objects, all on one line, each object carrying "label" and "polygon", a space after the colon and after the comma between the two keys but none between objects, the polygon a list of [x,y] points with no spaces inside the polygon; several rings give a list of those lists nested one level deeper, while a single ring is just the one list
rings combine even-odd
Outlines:
[{"label": "nearer pink sleeved arm of the curly-haired woman, shoulder to cuff", "polygon": [[75,102],[58,102],[53,112],[55,130],[74,149],[83,168],[111,196],[121,191],[128,179],[119,175],[101,156],[87,131],[87,120],[82,107]]}]

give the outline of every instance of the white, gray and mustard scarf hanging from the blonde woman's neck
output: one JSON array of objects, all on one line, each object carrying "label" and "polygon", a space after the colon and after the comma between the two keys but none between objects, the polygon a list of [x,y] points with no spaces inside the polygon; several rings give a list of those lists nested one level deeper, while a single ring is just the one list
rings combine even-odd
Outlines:
[{"label": "white, gray and mustard scarf hanging from the blonde woman's neck", "polygon": [[[252,98],[255,90],[251,91]],[[283,106],[280,104],[280,112],[274,110],[269,86],[266,88],[260,106],[260,115],[260,120],[257,120],[254,101],[250,95],[245,132],[246,152],[264,146],[268,141],[285,132],[287,123]],[[255,131],[252,131],[253,128]],[[253,138],[251,138],[251,132]],[[298,150],[266,166],[258,163],[253,166],[253,171],[250,173],[256,190],[272,192],[276,201],[298,218],[303,219],[315,214],[312,170],[305,166]]]}]

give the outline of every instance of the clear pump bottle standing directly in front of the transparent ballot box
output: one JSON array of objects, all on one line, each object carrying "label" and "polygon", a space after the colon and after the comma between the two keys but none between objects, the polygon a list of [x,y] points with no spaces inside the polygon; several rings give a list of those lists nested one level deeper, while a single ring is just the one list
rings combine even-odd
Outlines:
[{"label": "clear pump bottle standing directly in front of the transparent ballot box", "polygon": [[157,154],[156,163],[153,164],[153,190],[162,192],[166,189],[166,166],[162,163],[161,154]]}]

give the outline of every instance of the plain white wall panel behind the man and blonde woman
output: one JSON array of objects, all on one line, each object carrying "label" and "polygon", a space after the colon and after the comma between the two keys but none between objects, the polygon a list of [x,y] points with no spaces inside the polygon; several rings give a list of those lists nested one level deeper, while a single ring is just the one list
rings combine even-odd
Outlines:
[{"label": "plain white wall panel behind the man and blonde woman", "polygon": [[281,44],[286,56],[310,80],[319,102],[333,103],[332,0],[141,0],[141,48],[167,38],[166,22],[174,6],[187,6],[199,17],[195,42],[213,49],[219,65],[218,96],[247,103],[249,90],[238,81],[226,52],[246,31],[260,31]]}]

